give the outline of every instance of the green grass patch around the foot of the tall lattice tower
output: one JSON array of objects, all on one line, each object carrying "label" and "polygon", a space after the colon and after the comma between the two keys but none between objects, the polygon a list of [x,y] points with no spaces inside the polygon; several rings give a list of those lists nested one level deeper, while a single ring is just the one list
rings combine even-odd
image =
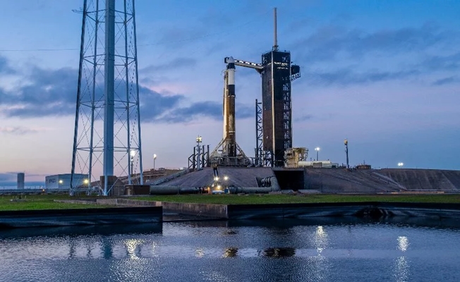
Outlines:
[{"label": "green grass patch around the foot of the tall lattice tower", "polygon": [[[78,197],[83,200],[90,197]],[[0,196],[0,211],[19,211],[19,210],[37,210],[37,209],[88,209],[88,208],[104,208],[100,204],[70,204],[54,202],[54,200],[76,200],[75,197],[69,195],[23,195],[19,201],[11,201],[18,199],[17,195]]]}]

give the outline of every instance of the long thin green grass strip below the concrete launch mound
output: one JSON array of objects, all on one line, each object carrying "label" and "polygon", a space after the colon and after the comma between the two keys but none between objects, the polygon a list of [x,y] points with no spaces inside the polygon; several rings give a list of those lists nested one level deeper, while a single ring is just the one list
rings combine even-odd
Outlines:
[{"label": "long thin green grass strip below the concrete launch mound", "polygon": [[136,200],[200,204],[290,204],[330,202],[425,202],[460,203],[460,195],[166,195],[133,197]]}]

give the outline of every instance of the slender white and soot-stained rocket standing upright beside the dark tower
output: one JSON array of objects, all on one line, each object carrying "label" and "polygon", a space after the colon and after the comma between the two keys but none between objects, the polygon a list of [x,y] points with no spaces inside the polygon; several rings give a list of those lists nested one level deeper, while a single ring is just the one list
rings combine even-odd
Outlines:
[{"label": "slender white and soot-stained rocket standing upright beside the dark tower", "polygon": [[229,57],[226,62],[225,92],[224,92],[224,147],[229,157],[236,157],[235,132],[235,61]]}]

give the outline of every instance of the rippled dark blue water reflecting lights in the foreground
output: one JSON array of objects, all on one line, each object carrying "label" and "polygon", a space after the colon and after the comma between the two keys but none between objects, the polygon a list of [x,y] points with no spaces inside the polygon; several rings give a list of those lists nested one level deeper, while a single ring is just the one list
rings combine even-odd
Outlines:
[{"label": "rippled dark blue water reflecting lights in the foreground", "polygon": [[4,231],[0,281],[459,281],[460,229],[424,225],[314,219]]}]

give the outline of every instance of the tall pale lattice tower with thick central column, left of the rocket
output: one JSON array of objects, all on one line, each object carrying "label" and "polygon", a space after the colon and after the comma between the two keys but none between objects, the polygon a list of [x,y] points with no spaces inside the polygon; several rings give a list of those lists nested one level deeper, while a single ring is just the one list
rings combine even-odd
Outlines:
[{"label": "tall pale lattice tower with thick central column, left of the rocket", "polygon": [[143,184],[134,0],[85,0],[82,12],[71,195],[109,195],[116,176]]}]

